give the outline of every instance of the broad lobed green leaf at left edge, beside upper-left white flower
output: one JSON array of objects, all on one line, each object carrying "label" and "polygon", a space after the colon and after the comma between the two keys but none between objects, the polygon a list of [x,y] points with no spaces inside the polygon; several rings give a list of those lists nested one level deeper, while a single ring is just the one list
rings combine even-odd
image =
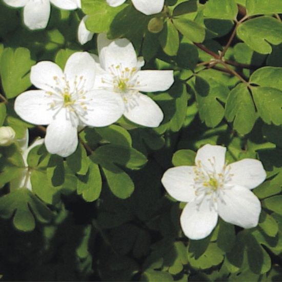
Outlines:
[{"label": "broad lobed green leaf at left edge, beside upper-left white flower", "polygon": [[26,48],[6,48],[1,57],[0,74],[2,85],[8,99],[17,96],[31,86],[30,68],[35,62]]}]

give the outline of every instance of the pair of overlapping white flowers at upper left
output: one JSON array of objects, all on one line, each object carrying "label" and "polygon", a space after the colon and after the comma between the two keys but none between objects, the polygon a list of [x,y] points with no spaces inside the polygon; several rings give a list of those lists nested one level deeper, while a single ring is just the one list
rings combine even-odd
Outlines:
[{"label": "pair of overlapping white flowers at upper left", "polygon": [[[139,91],[164,91],[173,84],[173,71],[140,70],[127,39],[98,37],[99,58],[87,52],[72,54],[64,71],[52,62],[31,68],[30,90],[15,100],[16,113],[26,122],[47,127],[45,145],[52,154],[66,157],[77,147],[77,128],[104,127],[123,114],[132,122],[157,127],[163,112]],[[96,62],[95,62],[96,61]]]}]

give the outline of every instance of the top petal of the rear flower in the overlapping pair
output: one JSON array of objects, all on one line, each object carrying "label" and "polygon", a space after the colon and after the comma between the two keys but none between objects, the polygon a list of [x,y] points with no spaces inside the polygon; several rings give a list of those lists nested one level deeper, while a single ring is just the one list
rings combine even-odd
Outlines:
[{"label": "top petal of the rear flower in the overlapping pair", "polygon": [[136,68],[137,56],[133,45],[126,38],[110,41],[105,33],[98,35],[98,52],[101,67],[107,71],[113,66]]}]

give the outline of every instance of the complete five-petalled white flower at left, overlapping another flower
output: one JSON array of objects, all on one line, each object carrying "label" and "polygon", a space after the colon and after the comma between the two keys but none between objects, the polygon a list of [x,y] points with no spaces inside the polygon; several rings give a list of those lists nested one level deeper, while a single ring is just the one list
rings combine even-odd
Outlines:
[{"label": "complete five-petalled white flower at left, overlapping another flower", "polygon": [[42,90],[19,95],[15,111],[29,123],[49,125],[45,145],[51,154],[66,157],[75,151],[79,125],[108,126],[124,112],[118,95],[92,90],[95,61],[87,52],[72,54],[64,72],[52,62],[40,62],[31,68],[30,80]]}]

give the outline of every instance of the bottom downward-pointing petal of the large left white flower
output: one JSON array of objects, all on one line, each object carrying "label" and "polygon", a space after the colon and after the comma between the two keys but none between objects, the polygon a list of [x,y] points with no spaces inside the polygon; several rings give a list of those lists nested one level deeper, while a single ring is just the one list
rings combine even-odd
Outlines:
[{"label": "bottom downward-pointing petal of the large left white flower", "polygon": [[45,146],[49,153],[62,157],[71,155],[77,147],[77,125],[78,120],[72,122],[66,118],[66,108],[62,108],[56,118],[47,127]]}]

